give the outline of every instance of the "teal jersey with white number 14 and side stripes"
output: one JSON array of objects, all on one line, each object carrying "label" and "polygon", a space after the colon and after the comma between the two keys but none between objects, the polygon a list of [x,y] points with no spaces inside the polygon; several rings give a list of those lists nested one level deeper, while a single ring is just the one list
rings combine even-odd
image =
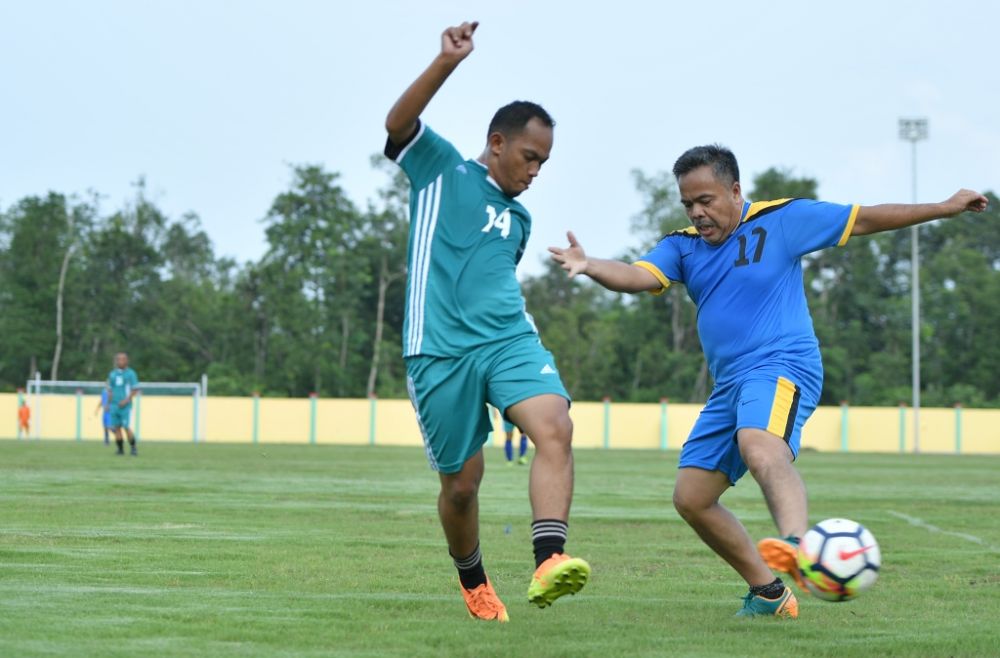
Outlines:
[{"label": "teal jersey with white number 14 and side stripes", "polygon": [[531,216],[426,124],[385,154],[410,179],[403,356],[461,356],[535,332],[515,270]]}]

